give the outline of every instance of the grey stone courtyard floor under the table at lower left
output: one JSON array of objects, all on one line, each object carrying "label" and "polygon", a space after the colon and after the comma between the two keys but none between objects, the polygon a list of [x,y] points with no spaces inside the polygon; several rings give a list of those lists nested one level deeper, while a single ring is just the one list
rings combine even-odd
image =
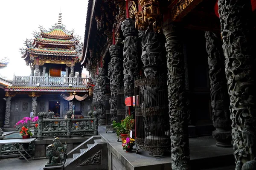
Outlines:
[{"label": "grey stone courtyard floor under the table at lower left", "polygon": [[48,159],[32,160],[28,163],[25,159],[7,158],[0,159],[0,170],[43,170]]}]

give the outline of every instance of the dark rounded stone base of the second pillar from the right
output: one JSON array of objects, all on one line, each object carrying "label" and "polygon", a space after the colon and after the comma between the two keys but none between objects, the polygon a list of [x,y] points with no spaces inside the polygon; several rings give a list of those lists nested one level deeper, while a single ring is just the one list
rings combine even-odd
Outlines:
[{"label": "dark rounded stone base of the second pillar from the right", "polygon": [[231,130],[223,130],[216,128],[216,130],[212,132],[212,136],[214,139],[216,139],[216,146],[233,147],[233,145],[231,144]]}]

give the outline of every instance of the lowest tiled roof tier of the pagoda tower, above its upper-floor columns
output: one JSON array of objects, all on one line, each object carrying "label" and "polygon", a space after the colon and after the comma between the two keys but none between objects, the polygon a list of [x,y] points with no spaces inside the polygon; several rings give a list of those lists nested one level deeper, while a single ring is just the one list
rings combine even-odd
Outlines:
[{"label": "lowest tiled roof tier of the pagoda tower, above its upper-floor columns", "polygon": [[53,56],[71,56],[76,57],[77,51],[64,51],[64,50],[49,50],[49,49],[41,49],[41,48],[26,48],[28,53],[31,54],[42,54],[42,55],[53,55]]}]

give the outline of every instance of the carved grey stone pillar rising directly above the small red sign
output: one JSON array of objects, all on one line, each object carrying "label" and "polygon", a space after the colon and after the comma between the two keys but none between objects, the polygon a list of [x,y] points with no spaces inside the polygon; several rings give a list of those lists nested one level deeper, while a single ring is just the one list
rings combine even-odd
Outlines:
[{"label": "carved grey stone pillar rising directly above the small red sign", "polygon": [[139,73],[138,71],[138,54],[137,54],[137,31],[135,29],[135,21],[133,19],[125,19],[122,22],[122,32],[125,36],[124,43],[124,87],[125,98],[134,96],[134,77]]}]

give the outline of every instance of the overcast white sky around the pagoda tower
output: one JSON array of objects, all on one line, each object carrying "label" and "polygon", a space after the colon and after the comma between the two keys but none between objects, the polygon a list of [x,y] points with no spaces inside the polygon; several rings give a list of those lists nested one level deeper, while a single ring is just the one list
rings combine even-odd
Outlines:
[{"label": "overcast white sky around the pagoda tower", "polygon": [[39,25],[48,30],[58,23],[60,11],[66,29],[74,28],[74,35],[80,35],[84,42],[87,4],[88,0],[1,0],[0,58],[9,57],[10,62],[7,68],[0,69],[0,74],[7,79],[12,79],[14,73],[30,75],[30,67],[21,59],[19,48],[25,48],[23,41],[33,38],[32,33],[39,31]]}]

